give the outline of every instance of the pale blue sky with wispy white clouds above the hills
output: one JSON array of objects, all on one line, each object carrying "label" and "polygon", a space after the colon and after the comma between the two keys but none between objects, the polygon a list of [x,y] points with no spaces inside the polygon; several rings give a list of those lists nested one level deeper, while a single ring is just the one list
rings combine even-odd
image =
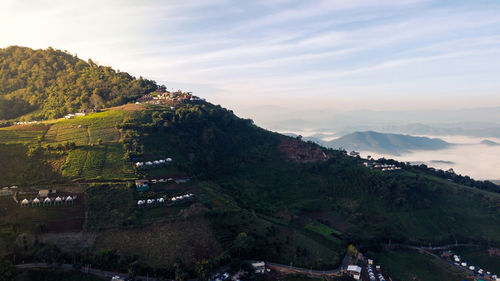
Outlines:
[{"label": "pale blue sky with wispy white clouds above the hills", "polygon": [[0,47],[49,46],[256,109],[500,106],[500,1],[0,0]]}]

